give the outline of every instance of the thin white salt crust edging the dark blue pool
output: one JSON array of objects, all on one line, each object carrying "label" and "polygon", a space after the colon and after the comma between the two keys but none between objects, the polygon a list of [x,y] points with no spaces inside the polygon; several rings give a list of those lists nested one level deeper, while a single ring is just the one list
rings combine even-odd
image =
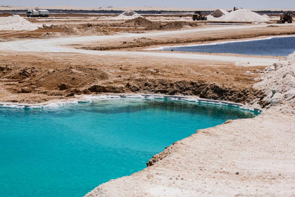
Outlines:
[{"label": "thin white salt crust edging the dark blue pool", "polygon": [[156,48],[147,48],[144,50],[163,50],[165,48],[178,48],[178,47],[188,47],[188,46],[208,46],[208,45],[217,45],[217,44],[226,44],[226,43],[232,43],[232,42],[248,42],[248,41],[258,41],[258,40],[269,40],[272,38],[285,38],[285,37],[295,37],[295,35],[291,36],[269,36],[266,38],[253,38],[253,39],[246,39],[246,40],[231,40],[231,41],[216,41],[211,43],[205,43],[205,44],[191,44],[191,45],[169,45],[169,46],[160,46]]}]

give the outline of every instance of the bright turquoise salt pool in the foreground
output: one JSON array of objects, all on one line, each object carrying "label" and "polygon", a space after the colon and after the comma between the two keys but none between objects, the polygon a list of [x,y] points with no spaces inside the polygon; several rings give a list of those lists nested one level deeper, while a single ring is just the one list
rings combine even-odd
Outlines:
[{"label": "bright turquoise salt pool in the foreground", "polygon": [[140,171],[173,142],[257,113],[171,99],[0,108],[0,196],[81,197]]}]

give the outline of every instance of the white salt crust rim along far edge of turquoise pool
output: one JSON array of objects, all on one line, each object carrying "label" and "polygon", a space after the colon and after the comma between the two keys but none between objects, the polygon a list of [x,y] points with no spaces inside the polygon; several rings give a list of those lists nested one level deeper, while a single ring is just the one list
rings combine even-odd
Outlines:
[{"label": "white salt crust rim along far edge of turquoise pool", "polygon": [[36,104],[28,104],[28,103],[0,103],[0,108],[46,108],[46,107],[57,107],[62,105],[69,104],[77,104],[77,103],[86,103],[91,102],[92,99],[112,99],[112,98],[148,98],[148,99],[175,99],[182,100],[191,103],[199,103],[199,104],[211,104],[211,105],[222,105],[222,106],[231,106],[237,107],[241,110],[247,111],[257,111],[261,112],[261,109],[256,109],[254,107],[249,107],[240,103],[233,103],[229,101],[216,101],[210,99],[199,98],[195,96],[177,96],[177,95],[163,95],[163,94],[94,94],[94,95],[83,95],[80,98],[73,100],[61,100],[61,101],[52,101],[45,103],[36,103]]}]

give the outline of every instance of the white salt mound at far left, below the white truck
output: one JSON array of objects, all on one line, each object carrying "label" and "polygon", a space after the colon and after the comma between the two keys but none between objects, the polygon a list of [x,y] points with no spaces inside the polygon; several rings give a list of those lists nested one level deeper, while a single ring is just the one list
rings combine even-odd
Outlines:
[{"label": "white salt mound at far left, below the white truck", "polygon": [[0,30],[37,30],[38,26],[20,17],[13,15],[0,18]]}]

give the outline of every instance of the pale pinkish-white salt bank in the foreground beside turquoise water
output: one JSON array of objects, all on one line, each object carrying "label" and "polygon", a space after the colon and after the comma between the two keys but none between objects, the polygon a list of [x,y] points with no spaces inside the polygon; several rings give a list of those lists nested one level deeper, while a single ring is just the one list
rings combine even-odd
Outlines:
[{"label": "pale pinkish-white salt bank in the foreground beside turquoise water", "polygon": [[198,130],[85,196],[294,196],[295,52],[254,87],[267,103],[257,117]]}]

